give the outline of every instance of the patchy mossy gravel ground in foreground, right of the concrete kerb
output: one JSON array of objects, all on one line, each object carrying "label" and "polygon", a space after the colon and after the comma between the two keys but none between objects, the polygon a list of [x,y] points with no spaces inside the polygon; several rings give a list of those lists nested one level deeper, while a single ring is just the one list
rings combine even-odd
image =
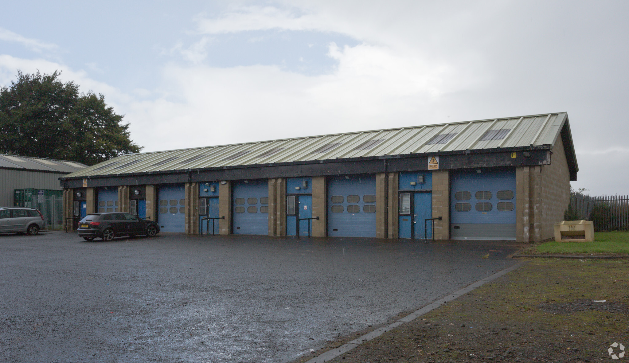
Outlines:
[{"label": "patchy mossy gravel ground in foreground, right of the concrete kerb", "polygon": [[628,281],[626,260],[535,259],[331,362],[608,360],[629,350]]}]

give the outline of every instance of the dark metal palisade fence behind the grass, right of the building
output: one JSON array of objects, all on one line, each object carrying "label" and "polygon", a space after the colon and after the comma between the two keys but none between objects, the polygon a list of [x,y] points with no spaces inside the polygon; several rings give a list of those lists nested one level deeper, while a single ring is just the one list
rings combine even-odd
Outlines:
[{"label": "dark metal palisade fence behind the grass, right of the building", "polygon": [[566,217],[593,221],[597,231],[629,230],[629,196],[573,194]]}]

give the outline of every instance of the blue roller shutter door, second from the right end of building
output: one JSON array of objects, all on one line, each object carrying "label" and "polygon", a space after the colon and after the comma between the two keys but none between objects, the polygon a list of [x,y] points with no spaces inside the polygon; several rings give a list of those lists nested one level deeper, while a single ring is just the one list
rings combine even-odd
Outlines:
[{"label": "blue roller shutter door, second from the right end of building", "polygon": [[376,237],[376,176],[328,180],[328,236]]}]

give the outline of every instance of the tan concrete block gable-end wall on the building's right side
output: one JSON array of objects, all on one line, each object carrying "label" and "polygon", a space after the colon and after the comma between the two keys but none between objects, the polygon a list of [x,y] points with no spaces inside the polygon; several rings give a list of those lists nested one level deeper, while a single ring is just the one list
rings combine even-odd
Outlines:
[{"label": "tan concrete block gable-end wall on the building's right side", "polygon": [[557,138],[552,148],[550,162],[550,165],[541,165],[540,170],[541,240],[554,237],[554,224],[564,220],[570,203],[570,170],[561,138]]}]

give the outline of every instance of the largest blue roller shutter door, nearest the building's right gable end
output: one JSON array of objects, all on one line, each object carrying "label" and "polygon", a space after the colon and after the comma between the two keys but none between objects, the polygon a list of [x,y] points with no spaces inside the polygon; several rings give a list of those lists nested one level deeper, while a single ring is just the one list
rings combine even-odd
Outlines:
[{"label": "largest blue roller shutter door, nearest the building's right gable end", "polygon": [[450,236],[460,240],[515,240],[515,170],[453,173]]}]

